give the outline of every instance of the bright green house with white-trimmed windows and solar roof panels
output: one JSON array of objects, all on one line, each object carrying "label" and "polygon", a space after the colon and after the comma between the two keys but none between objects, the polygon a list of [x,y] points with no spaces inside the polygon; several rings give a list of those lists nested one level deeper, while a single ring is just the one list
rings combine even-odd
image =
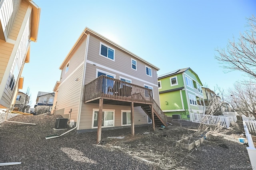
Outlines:
[{"label": "bright green house with white-trimmed windows and solar roof panels", "polygon": [[190,120],[190,113],[204,113],[202,82],[189,67],[158,76],[160,106],[169,117],[180,115]]}]

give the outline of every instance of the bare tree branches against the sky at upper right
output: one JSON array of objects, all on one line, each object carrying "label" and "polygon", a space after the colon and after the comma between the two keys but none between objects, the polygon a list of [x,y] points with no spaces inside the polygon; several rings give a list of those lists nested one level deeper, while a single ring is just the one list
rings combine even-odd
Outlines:
[{"label": "bare tree branches against the sky at upper right", "polygon": [[256,79],[256,18],[247,18],[250,29],[240,33],[238,42],[229,40],[226,49],[216,49],[215,58],[227,71],[239,70]]}]

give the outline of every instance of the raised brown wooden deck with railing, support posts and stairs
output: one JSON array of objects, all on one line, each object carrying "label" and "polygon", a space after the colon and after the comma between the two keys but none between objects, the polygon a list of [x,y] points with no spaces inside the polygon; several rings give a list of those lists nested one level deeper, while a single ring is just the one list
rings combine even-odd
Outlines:
[{"label": "raised brown wooden deck with railing, support posts and stairs", "polygon": [[167,125],[164,115],[156,101],[153,91],[145,87],[127,83],[118,79],[101,75],[84,86],[84,103],[98,103],[98,136],[97,143],[101,140],[102,109],[103,105],[122,105],[131,107],[131,131],[134,135],[134,107],[140,106],[152,119],[153,129],[156,125]]}]

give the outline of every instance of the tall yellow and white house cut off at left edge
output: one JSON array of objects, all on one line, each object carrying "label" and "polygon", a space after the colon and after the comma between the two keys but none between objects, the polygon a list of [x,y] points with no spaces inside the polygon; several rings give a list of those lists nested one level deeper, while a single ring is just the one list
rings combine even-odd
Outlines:
[{"label": "tall yellow and white house cut off at left edge", "polygon": [[10,108],[22,89],[30,42],[36,42],[40,8],[31,0],[0,0],[0,108]]}]

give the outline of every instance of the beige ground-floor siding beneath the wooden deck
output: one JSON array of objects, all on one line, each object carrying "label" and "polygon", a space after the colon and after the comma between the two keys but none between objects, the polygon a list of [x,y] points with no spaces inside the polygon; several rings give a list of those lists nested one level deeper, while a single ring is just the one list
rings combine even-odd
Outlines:
[{"label": "beige ground-floor siding beneath the wooden deck", "polygon": [[[80,115],[80,126],[78,130],[90,129],[92,128],[93,119],[93,109],[98,109],[98,104],[85,103],[82,105],[81,115]],[[119,106],[119,105],[103,105],[103,109],[110,109],[114,111],[114,127],[122,126],[122,110],[131,110],[129,106]],[[141,107],[134,107],[134,124],[143,125],[148,123],[148,117],[146,113],[141,109]]]}]

